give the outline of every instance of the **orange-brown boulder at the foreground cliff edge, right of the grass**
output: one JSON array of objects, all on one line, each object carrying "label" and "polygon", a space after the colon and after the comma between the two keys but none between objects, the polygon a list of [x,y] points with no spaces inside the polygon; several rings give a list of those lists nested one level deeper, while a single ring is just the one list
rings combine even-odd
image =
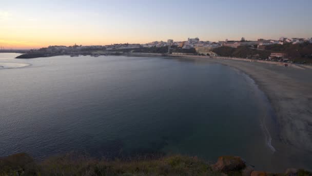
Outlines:
[{"label": "orange-brown boulder at the foreground cliff edge, right of the grass", "polygon": [[245,162],[239,156],[220,156],[218,162],[212,165],[213,170],[223,172],[239,171],[245,167]]}]

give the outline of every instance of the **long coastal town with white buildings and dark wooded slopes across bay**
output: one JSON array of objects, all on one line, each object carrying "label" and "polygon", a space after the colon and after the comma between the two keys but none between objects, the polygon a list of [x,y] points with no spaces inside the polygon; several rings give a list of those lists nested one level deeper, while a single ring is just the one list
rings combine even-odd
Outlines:
[{"label": "long coastal town with white buildings and dark wooded slopes across bay", "polygon": [[[2,48],[2,50],[4,50]],[[0,50],[1,52],[1,50]],[[312,63],[312,38],[286,38],[278,40],[258,39],[250,41],[244,37],[241,40],[224,40],[218,42],[201,41],[199,38],[188,38],[185,41],[154,41],[146,44],[111,44],[83,46],[48,46],[25,51],[19,58],[50,57],[69,55],[71,57],[90,55],[124,55],[134,53],[152,53],[162,55],[198,55],[210,57],[234,57],[257,59],[288,63]]]}]

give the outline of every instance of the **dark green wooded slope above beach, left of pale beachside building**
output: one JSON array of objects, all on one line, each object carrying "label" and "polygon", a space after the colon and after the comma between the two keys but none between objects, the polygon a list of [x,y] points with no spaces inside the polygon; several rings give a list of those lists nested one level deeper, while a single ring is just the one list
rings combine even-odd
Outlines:
[{"label": "dark green wooded slope above beach, left of pale beachside building", "polygon": [[249,59],[266,59],[270,56],[271,52],[266,50],[251,49],[247,46],[240,46],[232,48],[228,46],[222,46],[212,49],[219,56],[223,57],[237,57],[237,58],[249,58]]}]

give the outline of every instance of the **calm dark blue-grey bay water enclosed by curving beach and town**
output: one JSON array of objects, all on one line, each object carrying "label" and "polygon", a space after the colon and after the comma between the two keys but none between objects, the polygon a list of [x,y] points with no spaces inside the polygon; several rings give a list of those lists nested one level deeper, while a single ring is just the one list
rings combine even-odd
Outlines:
[{"label": "calm dark blue-grey bay water enclosed by curving beach and town", "polygon": [[0,70],[0,156],[164,152],[285,167],[267,144],[270,105],[236,69],[162,57],[1,57],[31,65]]}]

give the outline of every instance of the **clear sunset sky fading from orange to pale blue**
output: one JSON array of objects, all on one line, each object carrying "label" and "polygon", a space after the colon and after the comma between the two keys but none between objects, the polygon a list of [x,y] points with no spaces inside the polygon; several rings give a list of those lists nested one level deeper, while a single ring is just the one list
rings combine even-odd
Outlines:
[{"label": "clear sunset sky fading from orange to pale blue", "polygon": [[310,0],[0,0],[0,46],[310,38]]}]

